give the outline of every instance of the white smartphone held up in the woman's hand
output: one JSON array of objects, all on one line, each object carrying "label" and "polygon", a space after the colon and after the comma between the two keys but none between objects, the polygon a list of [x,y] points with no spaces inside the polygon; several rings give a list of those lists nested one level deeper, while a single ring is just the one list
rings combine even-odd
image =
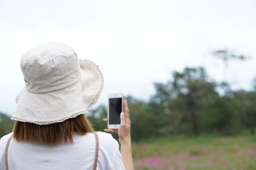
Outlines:
[{"label": "white smartphone held up in the woman's hand", "polygon": [[124,94],[115,93],[108,95],[108,128],[118,129],[120,126],[120,114],[123,112]]}]

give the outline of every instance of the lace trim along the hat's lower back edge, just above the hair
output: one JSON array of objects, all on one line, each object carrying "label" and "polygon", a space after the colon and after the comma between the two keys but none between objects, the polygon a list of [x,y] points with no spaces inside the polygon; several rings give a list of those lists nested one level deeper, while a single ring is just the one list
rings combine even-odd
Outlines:
[{"label": "lace trim along the hat's lower back edge, just above the hair", "polygon": [[64,122],[65,120],[67,120],[69,118],[75,118],[78,115],[82,115],[82,114],[86,114],[86,113],[88,113],[88,111],[79,111],[70,117],[61,118],[60,120],[53,120],[53,121],[49,121],[49,122],[28,121],[28,120],[24,120],[23,118],[17,118],[17,117],[12,117],[11,119],[17,120],[19,122],[28,122],[28,123],[37,124],[37,125],[49,125],[49,124],[56,124],[56,123]]}]

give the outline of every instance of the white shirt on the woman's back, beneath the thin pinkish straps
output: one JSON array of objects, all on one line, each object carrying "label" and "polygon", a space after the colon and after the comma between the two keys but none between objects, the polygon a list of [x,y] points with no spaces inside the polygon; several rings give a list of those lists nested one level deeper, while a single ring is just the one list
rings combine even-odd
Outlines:
[{"label": "white shirt on the woman's back, beneath the thin pinkish straps", "polygon": [[[99,157],[97,170],[125,169],[118,142],[105,132],[99,136]],[[12,133],[0,140],[0,170],[5,170],[4,152]],[[57,146],[17,142],[12,139],[8,150],[9,170],[86,170],[93,169],[95,157],[95,136],[92,133],[74,133],[74,143]]]}]

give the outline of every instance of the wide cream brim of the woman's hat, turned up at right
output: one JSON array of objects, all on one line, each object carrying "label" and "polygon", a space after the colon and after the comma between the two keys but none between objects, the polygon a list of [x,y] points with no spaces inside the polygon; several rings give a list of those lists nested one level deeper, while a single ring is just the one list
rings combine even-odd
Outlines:
[{"label": "wide cream brim of the woman's hat, turned up at right", "polygon": [[102,73],[90,60],[79,60],[81,80],[61,90],[31,93],[24,89],[17,96],[12,120],[38,125],[63,122],[88,113],[103,89]]}]

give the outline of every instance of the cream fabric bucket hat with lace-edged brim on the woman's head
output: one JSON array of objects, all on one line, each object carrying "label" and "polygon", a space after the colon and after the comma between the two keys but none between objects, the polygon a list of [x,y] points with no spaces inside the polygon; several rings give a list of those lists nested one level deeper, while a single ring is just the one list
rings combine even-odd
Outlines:
[{"label": "cream fabric bucket hat with lace-edged brim on the woman's head", "polygon": [[47,43],[24,53],[20,67],[26,87],[16,98],[12,119],[46,125],[88,113],[103,88],[99,66],[77,60],[72,48]]}]

